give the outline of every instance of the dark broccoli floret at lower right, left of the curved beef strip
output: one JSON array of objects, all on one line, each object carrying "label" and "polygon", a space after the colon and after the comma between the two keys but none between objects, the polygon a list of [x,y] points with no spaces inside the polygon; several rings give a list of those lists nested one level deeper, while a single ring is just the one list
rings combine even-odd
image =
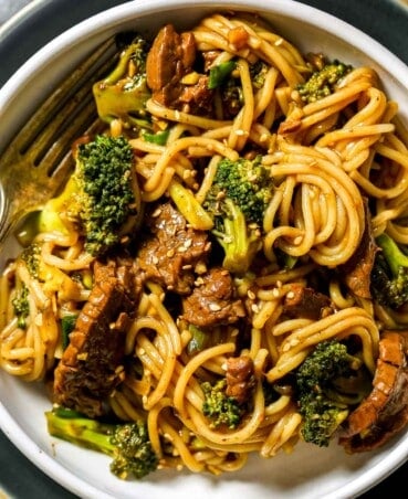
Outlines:
[{"label": "dark broccoli floret at lower right, left of the curved beef strip", "polygon": [[326,447],[351,407],[369,392],[362,360],[337,340],[318,343],[296,370],[296,396],[305,442]]}]

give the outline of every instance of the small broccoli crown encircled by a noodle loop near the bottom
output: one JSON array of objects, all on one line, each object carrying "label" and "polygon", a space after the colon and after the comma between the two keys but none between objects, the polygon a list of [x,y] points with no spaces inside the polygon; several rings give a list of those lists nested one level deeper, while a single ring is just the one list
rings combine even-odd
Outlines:
[{"label": "small broccoli crown encircled by a noodle loop near the bottom", "polygon": [[237,399],[226,393],[227,381],[221,379],[215,384],[209,381],[201,383],[205,394],[202,404],[202,413],[209,420],[215,428],[227,426],[228,428],[237,428],[243,416],[243,407],[238,403]]}]

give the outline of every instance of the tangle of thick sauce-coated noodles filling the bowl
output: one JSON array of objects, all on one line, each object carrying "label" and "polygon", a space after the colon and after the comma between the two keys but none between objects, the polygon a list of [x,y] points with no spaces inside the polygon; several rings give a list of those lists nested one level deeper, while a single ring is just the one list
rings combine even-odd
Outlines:
[{"label": "tangle of thick sauce-coated noodles filling the bowl", "polygon": [[[241,50],[229,42],[230,30],[238,26],[249,33]],[[335,268],[354,254],[366,223],[365,198],[370,200],[374,234],[387,231],[397,242],[408,244],[408,230],[400,222],[408,206],[407,134],[396,117],[397,104],[387,98],[370,67],[354,68],[334,94],[304,105],[294,88],[305,78],[306,61],[280,34],[245,17],[221,14],[203,19],[193,34],[199,50],[219,51],[215,64],[238,57],[244,104],[233,120],[226,120],[221,106],[217,119],[209,119],[150,99],[147,110],[172,127],[166,146],[130,140],[138,151],[143,200],[159,200],[177,178],[202,202],[218,160],[234,160],[245,146],[254,144],[278,185],[263,220],[262,251],[269,265],[251,288],[245,279],[238,288],[241,296],[248,294],[253,300],[245,352],[238,350],[234,327],[226,326],[218,331],[219,342],[189,355],[190,333],[166,309],[166,289],[148,283],[126,340],[126,354],[137,355],[143,376],[127,374],[111,405],[124,421],[147,418],[155,452],[164,456],[163,442],[172,449],[171,457],[166,453],[165,466],[219,474],[241,468],[252,452],[263,457],[280,449],[291,452],[299,439],[302,417],[295,402],[281,395],[265,406],[264,378],[280,380],[300,365],[313,346],[349,336],[360,338],[363,360],[374,373],[379,330],[408,322],[402,312],[389,312],[370,299],[356,298],[335,279],[328,289],[337,312],[317,321],[281,318],[283,299],[293,283],[306,284],[318,266]],[[258,59],[269,71],[264,85],[254,91],[249,64]],[[276,134],[273,125],[283,118],[293,131]],[[121,123],[113,123],[111,134],[121,132]],[[200,163],[207,161],[200,182],[196,158]],[[376,184],[379,170],[383,180]],[[75,232],[41,233],[36,240],[42,243],[49,279],[33,279],[20,261],[10,263],[1,279],[0,362],[4,371],[25,381],[42,380],[54,367],[61,357],[62,310],[80,310],[90,293],[79,289],[72,278],[92,263],[81,237]],[[276,247],[300,263],[282,272]],[[14,280],[29,288],[25,329],[18,327],[13,316]],[[200,383],[224,375],[227,358],[242,353],[254,363],[253,410],[239,428],[221,432],[202,414]]]}]

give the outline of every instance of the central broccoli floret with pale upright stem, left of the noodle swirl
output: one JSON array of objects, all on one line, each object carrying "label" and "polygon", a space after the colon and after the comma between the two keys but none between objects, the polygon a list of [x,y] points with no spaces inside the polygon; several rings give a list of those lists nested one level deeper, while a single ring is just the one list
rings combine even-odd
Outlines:
[{"label": "central broccoli floret with pale upright stem, left of the noodle swirl", "polygon": [[212,216],[212,234],[224,251],[222,265],[244,274],[261,246],[261,225],[272,198],[269,171],[254,160],[219,161],[212,185],[202,206]]}]

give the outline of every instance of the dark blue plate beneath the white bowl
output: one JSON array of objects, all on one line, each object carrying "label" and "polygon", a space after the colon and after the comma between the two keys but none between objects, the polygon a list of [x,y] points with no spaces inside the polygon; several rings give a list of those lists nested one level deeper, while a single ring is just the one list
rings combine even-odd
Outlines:
[{"label": "dark blue plate beneath the white bowl", "polygon": [[[300,0],[329,12],[366,32],[408,64],[408,6],[405,0]],[[84,19],[111,7],[115,0],[34,0],[15,15],[0,35],[0,86],[45,43]],[[405,7],[404,7],[405,6]],[[28,407],[29,410],[29,407]],[[386,497],[405,481],[408,464],[360,496]],[[75,499],[28,460],[0,431],[0,496],[14,499]]]}]

